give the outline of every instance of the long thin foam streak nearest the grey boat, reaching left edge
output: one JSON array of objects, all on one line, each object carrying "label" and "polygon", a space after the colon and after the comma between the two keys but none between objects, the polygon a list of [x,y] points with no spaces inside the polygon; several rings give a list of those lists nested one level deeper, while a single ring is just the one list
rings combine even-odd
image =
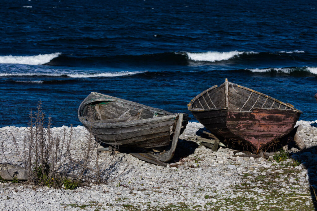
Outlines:
[{"label": "long thin foam streak nearest the grey boat, reaching left edge", "polygon": [[48,77],[62,77],[67,76],[69,78],[93,78],[93,77],[118,77],[118,76],[129,76],[138,73],[143,73],[146,71],[122,71],[122,72],[103,72],[103,73],[0,73],[0,77],[8,76],[20,76],[20,77],[30,77],[30,76],[48,76]]}]

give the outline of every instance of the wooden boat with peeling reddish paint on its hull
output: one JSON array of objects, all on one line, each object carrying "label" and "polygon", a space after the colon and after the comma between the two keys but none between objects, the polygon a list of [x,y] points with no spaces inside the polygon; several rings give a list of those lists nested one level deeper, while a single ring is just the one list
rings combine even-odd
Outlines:
[{"label": "wooden boat with peeling reddish paint on its hull", "polygon": [[256,152],[291,132],[302,113],[289,103],[227,79],[193,98],[188,110],[217,138],[242,140]]}]

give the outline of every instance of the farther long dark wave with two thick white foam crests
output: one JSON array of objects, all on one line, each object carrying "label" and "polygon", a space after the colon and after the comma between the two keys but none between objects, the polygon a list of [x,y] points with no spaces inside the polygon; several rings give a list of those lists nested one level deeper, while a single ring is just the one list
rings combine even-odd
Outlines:
[{"label": "farther long dark wave with two thick white foam crests", "polygon": [[[281,51],[282,52],[282,51]],[[283,51],[284,52],[284,51]],[[104,67],[128,66],[157,66],[157,65],[213,65],[246,64],[250,62],[294,61],[305,60],[297,54],[304,51],[285,51],[284,53],[255,52],[255,51],[207,51],[207,52],[164,52],[140,55],[109,55],[109,56],[74,56],[61,53],[43,54],[37,56],[0,56],[0,63],[26,64],[26,65],[52,65],[76,67]],[[305,54],[304,54],[305,55]]]}]

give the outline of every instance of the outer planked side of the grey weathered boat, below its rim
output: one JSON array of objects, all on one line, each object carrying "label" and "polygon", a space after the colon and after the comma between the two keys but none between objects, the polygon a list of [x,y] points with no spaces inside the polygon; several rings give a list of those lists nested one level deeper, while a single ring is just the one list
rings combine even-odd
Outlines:
[{"label": "outer planked side of the grey weathered boat, below its rim", "polygon": [[91,128],[97,140],[105,144],[155,148],[169,145],[171,133],[175,130],[171,127],[176,125],[178,118],[179,115],[169,115],[122,124],[93,123],[89,126],[88,121],[82,123],[87,129]]}]

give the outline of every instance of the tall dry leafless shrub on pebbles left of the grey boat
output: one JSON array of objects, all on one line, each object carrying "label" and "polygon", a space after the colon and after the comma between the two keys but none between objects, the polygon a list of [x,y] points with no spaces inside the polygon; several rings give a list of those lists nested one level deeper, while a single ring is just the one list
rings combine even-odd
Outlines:
[{"label": "tall dry leafless shrub on pebbles left of the grey boat", "polygon": [[[53,136],[51,131],[51,118],[45,118],[40,101],[35,113],[30,111],[28,135],[24,137],[22,150],[13,133],[12,140],[16,148],[17,156],[22,160],[25,169],[29,173],[29,181],[35,185],[47,187],[75,189],[85,183],[106,183],[114,171],[118,162],[116,156],[99,162],[97,141],[88,130],[81,153],[72,152],[73,127],[66,131],[64,128],[60,136]],[[45,128],[45,122],[47,127]],[[1,144],[2,153],[6,150]],[[8,160],[7,160],[8,162]],[[9,162],[8,162],[9,163]],[[70,179],[72,178],[72,179]],[[13,180],[12,182],[18,182]]]}]

